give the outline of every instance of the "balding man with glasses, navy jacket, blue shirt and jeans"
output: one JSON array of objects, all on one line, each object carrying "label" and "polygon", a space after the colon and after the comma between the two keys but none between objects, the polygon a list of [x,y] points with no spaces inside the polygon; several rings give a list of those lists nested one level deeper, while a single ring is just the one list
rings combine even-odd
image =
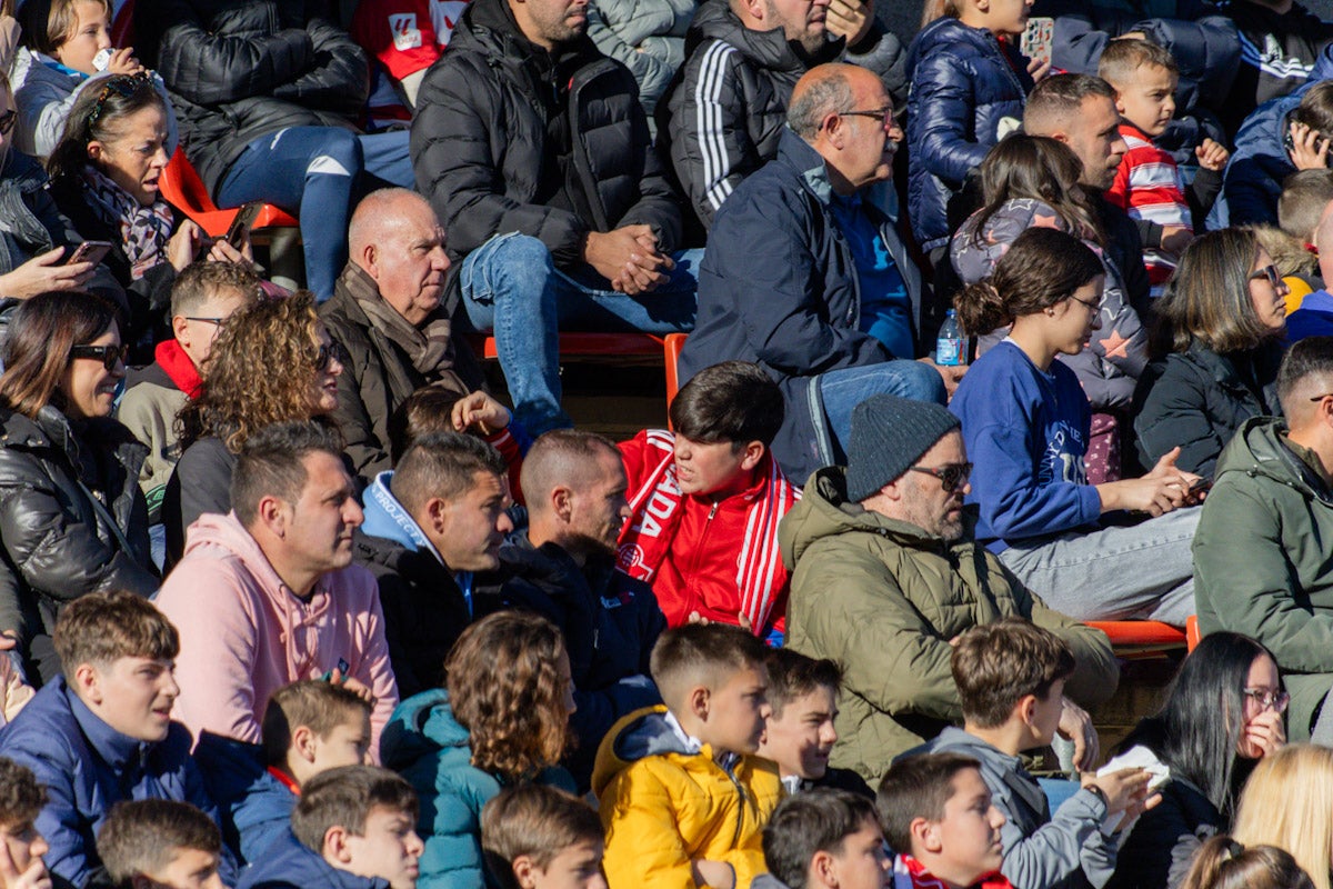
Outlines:
[{"label": "balding man with glasses, navy jacket, blue shirt and jeans", "polygon": [[902,131],[865,68],[812,68],[792,91],[777,157],[717,212],[682,377],[753,361],[782,389],[773,456],[789,478],[842,462],[852,409],[886,392],[944,404],[961,368],[916,361],[921,273],[882,199]]}]

